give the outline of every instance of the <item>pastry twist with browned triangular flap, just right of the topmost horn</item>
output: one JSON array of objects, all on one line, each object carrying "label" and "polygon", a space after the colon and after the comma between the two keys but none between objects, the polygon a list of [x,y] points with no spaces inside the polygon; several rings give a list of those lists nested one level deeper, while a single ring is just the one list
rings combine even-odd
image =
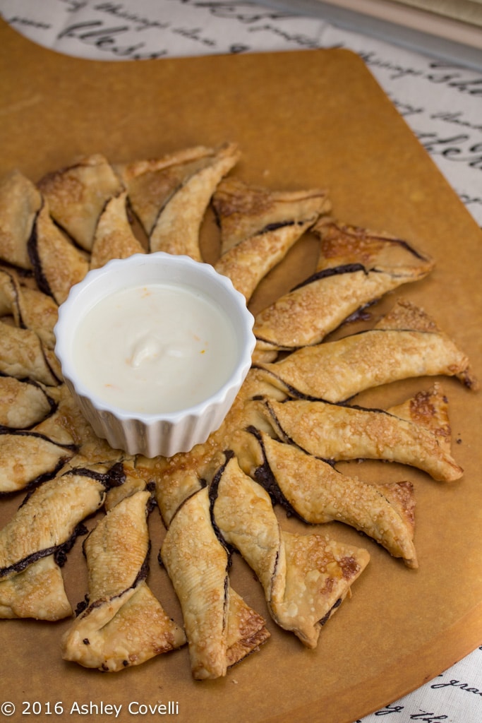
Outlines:
[{"label": "pastry twist with browned triangular flap, just right of the topmost horn", "polygon": [[331,208],[327,192],[320,189],[277,192],[238,179],[222,181],[212,202],[221,229],[215,269],[231,278],[248,300],[262,278]]}]

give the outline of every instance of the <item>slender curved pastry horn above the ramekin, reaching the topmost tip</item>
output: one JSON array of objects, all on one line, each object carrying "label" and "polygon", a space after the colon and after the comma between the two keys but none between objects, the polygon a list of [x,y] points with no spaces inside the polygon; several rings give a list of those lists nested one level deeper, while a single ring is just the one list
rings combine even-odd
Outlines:
[{"label": "slender curved pastry horn above the ramekin, reaching the topmost tip", "polygon": [[186,254],[202,261],[199,231],[212,194],[239,158],[234,143],[221,146],[205,168],[189,176],[168,199],[149,236],[150,251]]}]

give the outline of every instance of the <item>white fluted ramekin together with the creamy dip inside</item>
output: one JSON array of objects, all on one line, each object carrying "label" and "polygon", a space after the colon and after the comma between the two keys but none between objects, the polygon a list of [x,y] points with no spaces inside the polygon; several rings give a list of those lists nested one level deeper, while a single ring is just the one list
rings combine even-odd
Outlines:
[{"label": "white fluted ramekin together with the creamy dip inside", "polygon": [[55,351],[99,437],[129,454],[171,456],[223,422],[251,366],[253,323],[211,265],[134,254],[72,287]]}]

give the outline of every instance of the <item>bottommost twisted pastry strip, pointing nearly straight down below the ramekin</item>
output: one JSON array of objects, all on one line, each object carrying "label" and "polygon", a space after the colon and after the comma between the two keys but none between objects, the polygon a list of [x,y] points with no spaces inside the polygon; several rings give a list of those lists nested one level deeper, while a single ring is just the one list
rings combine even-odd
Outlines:
[{"label": "bottommost twisted pastry strip, pointing nearly straight down below the ramekin", "polygon": [[207,487],[178,508],[160,555],[181,604],[194,679],[223,677],[269,633],[231,589],[228,552],[212,527]]}]

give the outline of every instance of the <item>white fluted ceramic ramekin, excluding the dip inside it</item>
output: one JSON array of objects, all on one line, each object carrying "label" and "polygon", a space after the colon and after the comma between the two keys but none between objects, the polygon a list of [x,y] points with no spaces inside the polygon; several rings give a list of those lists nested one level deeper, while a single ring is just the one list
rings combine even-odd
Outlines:
[{"label": "white fluted ceramic ramekin, excluding the dip inside it", "polygon": [[[180,411],[141,414],[112,406],[87,388],[79,378],[73,358],[74,338],[79,323],[98,301],[126,286],[156,282],[191,286],[210,297],[231,320],[238,356],[228,380],[204,401]],[[72,287],[59,307],[55,351],[66,385],[98,437],[128,454],[170,457],[205,442],[220,427],[251,366],[256,341],[253,323],[244,296],[211,265],[163,252],[134,254],[89,271],[83,281]]]}]

